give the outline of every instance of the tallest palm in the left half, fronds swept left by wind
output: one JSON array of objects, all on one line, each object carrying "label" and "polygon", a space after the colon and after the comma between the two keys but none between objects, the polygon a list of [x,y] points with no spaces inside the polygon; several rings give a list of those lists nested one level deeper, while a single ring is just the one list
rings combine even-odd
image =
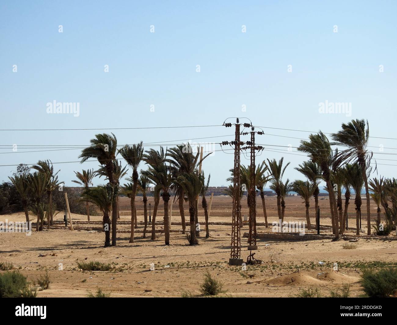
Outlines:
[{"label": "tallest palm in the left half, fronds swept left by wind", "polygon": [[117,139],[115,135],[109,135],[107,133],[101,133],[95,135],[94,139],[90,140],[91,145],[81,152],[79,158],[81,163],[89,160],[89,158],[95,158],[98,162],[106,168],[106,174],[110,185],[113,187],[112,199],[112,246],[116,246],[116,230],[117,230],[117,200],[115,199],[118,195],[117,181],[114,179],[114,161],[117,155]]}]

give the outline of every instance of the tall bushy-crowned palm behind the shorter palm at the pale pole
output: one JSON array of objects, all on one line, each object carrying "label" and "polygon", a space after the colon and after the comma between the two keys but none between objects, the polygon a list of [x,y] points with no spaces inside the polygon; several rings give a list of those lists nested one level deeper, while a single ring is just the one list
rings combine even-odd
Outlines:
[{"label": "tall bushy-crowned palm behind the shorter palm at the pale pole", "polygon": [[[171,164],[173,179],[176,180],[178,176],[183,173],[193,173],[196,171],[200,162],[207,158],[211,153],[206,154],[201,160],[199,160],[200,153],[198,148],[197,154],[193,155],[193,150],[189,142],[187,144],[180,144],[168,149],[166,162]],[[183,209],[183,200],[185,194],[178,183],[175,182],[173,188],[175,188],[175,198],[178,198],[179,213],[181,214],[182,220],[182,233],[184,234],[186,231],[185,211]]]}]

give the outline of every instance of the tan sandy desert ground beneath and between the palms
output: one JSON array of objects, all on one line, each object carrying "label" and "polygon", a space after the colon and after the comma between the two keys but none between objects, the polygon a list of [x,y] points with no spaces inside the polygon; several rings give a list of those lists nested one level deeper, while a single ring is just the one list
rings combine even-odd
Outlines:
[{"label": "tan sandy desert ground beneath and between the palms", "polygon": [[[208,200],[209,201],[209,200]],[[152,198],[149,200],[152,203]],[[277,221],[276,197],[267,197],[266,205],[269,222]],[[303,221],[304,204],[299,197],[286,200],[286,221]],[[122,198],[121,221],[131,219],[129,199]],[[246,201],[242,201],[243,212],[247,214]],[[365,200],[363,201],[365,206]],[[263,222],[262,204],[257,201],[257,221]],[[320,200],[321,224],[330,225],[329,201]],[[376,219],[376,206],[371,202],[372,219]],[[314,223],[314,201],[311,206]],[[137,198],[138,220],[143,221],[141,198]],[[180,221],[178,205],[173,205],[172,221]],[[185,204],[185,213],[188,214]],[[199,219],[204,221],[200,206]],[[366,224],[366,213],[362,212],[362,225]],[[34,218],[33,216],[31,216]],[[160,209],[157,220],[161,221]],[[1,215],[0,221],[24,221],[23,213]],[[63,212],[56,215],[55,221],[63,221]],[[77,221],[86,221],[84,215],[72,214]],[[91,216],[91,221],[102,221],[100,216]],[[210,221],[231,221],[231,199],[216,196],[212,202]],[[349,225],[355,225],[354,205],[349,206]],[[81,225],[87,227],[87,225]],[[93,225],[98,227],[98,225]],[[129,229],[129,225],[118,225],[118,229]],[[139,225],[143,229],[143,225]],[[162,229],[158,225],[156,229]],[[150,229],[150,226],[148,227]],[[0,262],[9,262],[27,275],[29,280],[37,279],[49,270],[51,285],[39,291],[39,297],[84,297],[89,292],[101,288],[112,297],[180,297],[188,291],[200,295],[203,275],[209,271],[224,283],[226,296],[239,297],[287,297],[296,296],[302,288],[318,287],[323,296],[330,290],[348,284],[351,296],[363,294],[359,285],[361,271],[356,263],[381,261],[396,263],[397,241],[359,239],[354,249],[343,249],[346,242],[331,240],[258,240],[255,257],[263,260],[261,265],[247,265],[247,271],[239,266],[229,266],[231,226],[210,225],[210,237],[199,238],[200,245],[189,246],[181,226],[172,225],[177,230],[170,234],[170,246],[164,245],[164,235],[157,234],[156,240],[135,234],[135,242],[129,243],[128,233],[119,233],[117,246],[104,248],[104,233],[86,230],[50,229],[33,231],[31,236],[24,233],[0,233]],[[204,227],[202,227],[204,229]],[[188,230],[188,228],[187,228]],[[242,233],[248,230],[243,227]],[[270,231],[258,226],[258,231]],[[241,254],[247,259],[247,239],[241,238]],[[77,262],[99,261],[110,263],[112,271],[81,271]],[[318,262],[325,264],[319,264]],[[338,263],[338,272],[333,271],[333,263]],[[150,271],[154,263],[154,271]],[[378,262],[377,262],[378,263]]]}]

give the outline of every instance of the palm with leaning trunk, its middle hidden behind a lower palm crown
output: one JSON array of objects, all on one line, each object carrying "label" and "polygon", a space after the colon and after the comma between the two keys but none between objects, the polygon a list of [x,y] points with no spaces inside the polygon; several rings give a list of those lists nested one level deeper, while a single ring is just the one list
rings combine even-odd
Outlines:
[{"label": "palm with leaning trunk, its middle hidden behind a lower palm crown", "polygon": [[[166,159],[164,148],[160,147],[160,151],[150,149],[145,151],[143,155],[143,160],[146,164],[151,167],[151,170],[141,171],[142,175],[146,176],[149,180],[155,178],[155,171],[157,166],[162,165],[164,160]],[[155,184],[153,184],[155,185]],[[160,202],[160,193],[154,193],[154,207],[153,207],[153,216],[152,216],[152,237],[151,240],[156,239],[156,215],[157,215],[157,208]]]}]

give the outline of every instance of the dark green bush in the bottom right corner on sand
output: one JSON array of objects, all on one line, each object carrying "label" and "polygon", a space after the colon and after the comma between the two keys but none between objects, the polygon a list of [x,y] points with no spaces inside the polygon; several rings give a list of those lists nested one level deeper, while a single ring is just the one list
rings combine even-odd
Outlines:
[{"label": "dark green bush in the bottom right corner on sand", "polygon": [[361,285],[369,297],[388,297],[397,290],[397,268],[366,269],[362,273]]}]

